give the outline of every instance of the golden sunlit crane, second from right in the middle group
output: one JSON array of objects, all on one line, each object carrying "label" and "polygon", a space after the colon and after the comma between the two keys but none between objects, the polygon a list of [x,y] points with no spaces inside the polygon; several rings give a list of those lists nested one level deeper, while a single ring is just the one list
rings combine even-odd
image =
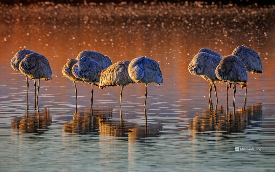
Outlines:
[{"label": "golden sunlit crane, second from right in the middle group", "polygon": [[112,64],[107,69],[103,69],[100,76],[99,88],[103,89],[107,86],[120,86],[120,107],[123,88],[129,83],[135,83],[128,74],[128,66],[130,62],[123,60]]}]

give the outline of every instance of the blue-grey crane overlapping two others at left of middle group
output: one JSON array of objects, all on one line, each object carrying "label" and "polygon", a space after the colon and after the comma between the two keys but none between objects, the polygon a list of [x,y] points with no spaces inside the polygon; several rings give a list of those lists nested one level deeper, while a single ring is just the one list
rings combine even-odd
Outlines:
[{"label": "blue-grey crane overlapping two others at left of middle group", "polygon": [[75,77],[82,79],[83,83],[92,84],[91,104],[93,103],[93,85],[99,86],[100,73],[102,66],[94,60],[88,60],[82,57],[72,67],[72,73]]}]

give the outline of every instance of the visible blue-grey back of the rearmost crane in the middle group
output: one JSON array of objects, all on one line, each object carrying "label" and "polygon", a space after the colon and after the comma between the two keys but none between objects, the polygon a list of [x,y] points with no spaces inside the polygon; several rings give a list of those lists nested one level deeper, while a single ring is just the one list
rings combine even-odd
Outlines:
[{"label": "visible blue-grey back of the rearmost crane in the middle group", "polygon": [[111,58],[103,55],[102,53],[98,53],[96,51],[84,50],[78,54],[76,59],[80,60],[83,57],[88,58],[88,60],[94,60],[94,61],[98,62],[103,69],[106,69],[111,64],[113,64]]}]

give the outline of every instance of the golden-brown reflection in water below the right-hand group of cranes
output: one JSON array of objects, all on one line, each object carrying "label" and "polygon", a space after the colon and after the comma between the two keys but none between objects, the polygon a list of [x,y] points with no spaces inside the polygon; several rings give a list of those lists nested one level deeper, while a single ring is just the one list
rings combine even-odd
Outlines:
[{"label": "golden-brown reflection in water below the right-hand group of cranes", "polygon": [[[211,106],[209,106],[211,107]],[[228,112],[226,107],[207,109],[197,112],[188,130],[192,130],[192,136],[208,135],[214,132],[222,134],[241,133],[247,125],[256,125],[251,121],[259,121],[262,115],[262,104],[244,106]]]}]

